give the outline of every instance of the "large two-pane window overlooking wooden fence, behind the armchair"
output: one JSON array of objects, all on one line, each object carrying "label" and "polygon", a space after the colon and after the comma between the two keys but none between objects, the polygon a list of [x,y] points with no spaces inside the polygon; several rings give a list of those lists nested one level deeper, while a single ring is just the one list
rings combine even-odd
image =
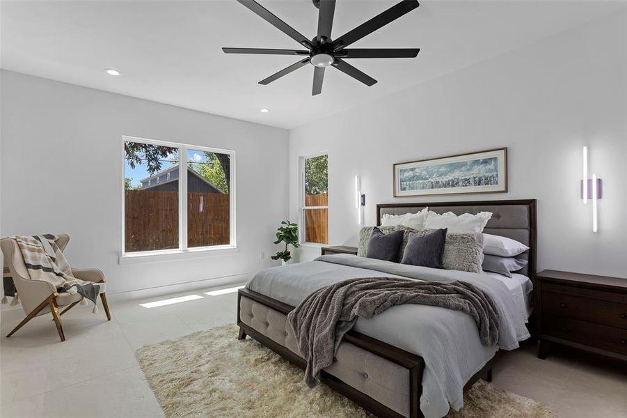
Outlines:
[{"label": "large two-pane window overlooking wooden fence, behind the armchair", "polygon": [[235,153],[129,137],[124,150],[123,254],[235,247]]}]

